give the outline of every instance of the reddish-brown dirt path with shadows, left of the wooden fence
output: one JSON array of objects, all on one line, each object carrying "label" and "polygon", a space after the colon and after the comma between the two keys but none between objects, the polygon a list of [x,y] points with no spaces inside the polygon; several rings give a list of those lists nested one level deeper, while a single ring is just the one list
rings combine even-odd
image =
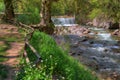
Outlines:
[{"label": "reddish-brown dirt path with shadows, left of the wooden fence", "polygon": [[8,49],[4,51],[7,54],[2,55],[4,56],[3,58],[7,58],[7,60],[0,62],[0,64],[6,66],[6,70],[8,70],[7,77],[4,80],[14,80],[15,71],[19,64],[20,52],[24,47],[23,41],[20,41],[21,38],[17,27],[9,24],[0,24],[0,42],[3,45],[6,43],[9,45]]}]

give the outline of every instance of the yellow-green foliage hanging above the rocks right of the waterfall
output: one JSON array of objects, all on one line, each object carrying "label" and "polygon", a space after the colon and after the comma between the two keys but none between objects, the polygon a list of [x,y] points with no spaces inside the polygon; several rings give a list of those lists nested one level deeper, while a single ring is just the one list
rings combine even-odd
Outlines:
[{"label": "yellow-green foliage hanging above the rocks right of the waterfall", "polygon": [[120,22],[119,0],[75,0],[74,2],[78,23],[85,23],[95,17]]}]

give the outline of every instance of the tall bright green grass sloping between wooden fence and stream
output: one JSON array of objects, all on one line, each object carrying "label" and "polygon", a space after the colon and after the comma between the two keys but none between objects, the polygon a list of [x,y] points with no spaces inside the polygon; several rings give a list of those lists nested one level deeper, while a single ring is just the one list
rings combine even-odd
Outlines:
[{"label": "tall bright green grass sloping between wooden fence and stream", "polygon": [[[54,39],[45,33],[35,31],[30,40],[30,44],[32,44],[32,46],[34,46],[39,52],[43,60],[40,64],[42,68],[37,68],[37,70],[34,69],[36,70],[36,73],[34,73],[33,70],[33,72],[31,72],[34,73],[33,75],[41,76],[40,71],[43,71],[45,74],[45,76],[42,76],[44,77],[43,80],[52,80],[52,76],[54,75],[57,75],[58,80],[98,80],[96,76],[91,74],[90,70],[70,57],[65,51],[62,51],[62,49],[55,43]],[[27,52],[30,61],[35,61],[36,57],[33,56],[33,53],[29,48],[27,48]],[[21,73],[19,73],[19,75],[20,74]],[[30,74],[25,74],[21,79],[28,80],[30,76]],[[41,79],[38,77],[36,80]]]}]

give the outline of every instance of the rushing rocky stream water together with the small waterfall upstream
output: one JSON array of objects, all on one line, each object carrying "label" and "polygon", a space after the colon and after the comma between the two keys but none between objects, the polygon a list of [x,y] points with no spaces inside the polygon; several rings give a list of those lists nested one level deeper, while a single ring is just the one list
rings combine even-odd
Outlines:
[{"label": "rushing rocky stream water together with the small waterfall upstream", "polygon": [[[73,18],[52,19],[56,26],[73,26]],[[86,26],[85,26],[86,27]],[[105,80],[120,80],[120,38],[111,36],[108,30],[96,27],[87,27],[91,33],[92,39],[81,41],[83,37],[67,34],[67,40],[70,44],[70,54],[80,62],[95,70]],[[69,40],[68,40],[69,38]],[[114,75],[117,78],[114,78]],[[107,79],[110,77],[111,79]],[[113,79],[114,78],[114,79]]]}]

